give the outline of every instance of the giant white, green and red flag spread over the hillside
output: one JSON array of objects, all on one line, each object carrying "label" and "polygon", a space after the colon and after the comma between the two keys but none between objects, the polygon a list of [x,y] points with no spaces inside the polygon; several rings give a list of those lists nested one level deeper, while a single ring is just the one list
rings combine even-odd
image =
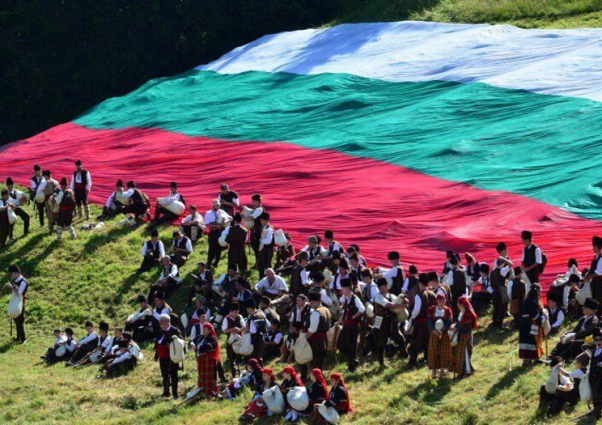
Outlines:
[{"label": "giant white, green and red flag spread over the hillside", "polygon": [[361,23],[266,35],[191,72],[149,81],[0,152],[25,183],[82,159],[101,202],[117,179],[169,181],[201,210],[229,182],[263,193],[304,244],[333,229],[372,263],[397,249],[589,266],[602,234],[602,30]]}]

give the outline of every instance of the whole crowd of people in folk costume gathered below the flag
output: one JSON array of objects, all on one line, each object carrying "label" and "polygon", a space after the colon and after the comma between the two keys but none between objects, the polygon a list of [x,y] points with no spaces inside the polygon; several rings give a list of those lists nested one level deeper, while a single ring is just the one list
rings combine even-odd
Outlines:
[{"label": "whole crowd of people in folk costume gathered below the flag", "polygon": [[[34,171],[29,196],[14,191],[11,179],[6,181],[8,189],[2,191],[0,203],[2,244],[2,235],[5,240],[11,236],[16,220],[8,220],[11,212],[23,218],[28,231],[29,216],[21,208],[27,202],[33,201],[40,226],[46,218],[57,239],[61,239],[65,228],[76,237],[74,215],[89,219],[91,174],[81,168],[81,162],[76,162],[70,184],[66,178],[53,180],[50,171],[41,171],[40,166]],[[307,245],[297,251],[290,235],[271,225],[271,214],[260,194],[251,196],[251,205],[241,207],[238,194],[222,184],[204,215],[195,205],[189,205],[188,214],[184,214],[185,205],[178,185],[172,182],[166,197],[157,198],[153,217],[149,198],[134,181],[125,186],[121,180],[116,183],[102,217],[123,214],[125,220],[120,225],[147,225],[149,240],[142,246],[137,273],[158,268],[159,278],[149,283],[148,293],[138,295],[140,308],[127,317],[123,327],[114,330],[115,336],[109,336],[106,323],[100,324],[98,334],[87,323],[88,334],[79,341],[74,339],[72,329],[64,333],[57,329],[55,344],[48,349],[45,360],[68,360],[67,364],[76,366],[102,362],[108,373],[121,372],[142,360],[137,343],[154,341],[164,396],[178,398],[178,346],[183,344],[176,342],[188,338],[198,366],[199,390],[195,395],[232,399],[246,386],[254,396],[241,415],[244,421],[265,414],[284,414],[290,421],[309,416],[318,423],[334,423],[334,415],[338,418],[351,411],[348,390],[339,373],[329,375],[331,390],[327,390],[324,370],[335,353],[346,362],[348,373],[353,373],[362,361],[385,366],[385,358],[397,356],[407,358],[405,368],[426,365],[433,379],[450,374],[466,378],[475,373],[472,335],[479,326],[478,317],[492,305],[492,329],[518,330],[518,355],[523,363],[546,361],[561,378],[562,384],[551,393],[550,385],[543,387],[543,407],[550,413],[560,411],[559,406],[562,409],[575,400],[575,387],[581,382],[572,380],[587,380],[594,400],[591,414],[601,416],[602,384],[598,378],[602,372],[598,368],[602,368],[602,361],[594,364],[598,356],[602,357],[598,328],[602,299],[600,237],[592,240],[595,256],[591,266],[579,271],[577,261],[570,259],[567,273],[558,276],[545,294],[544,306],[539,282],[547,256],[529,231],[520,236],[520,260],[511,259],[506,244],[499,242],[491,264],[477,261],[468,252],[460,255],[447,251],[441,271],[421,271],[416,265],[404,269],[400,253],[391,251],[387,256],[389,266],[371,268],[360,246],[350,244],[345,248],[329,229],[310,235]],[[160,226],[180,218],[169,246],[165,246]],[[187,315],[179,317],[168,301],[181,286],[181,266],[203,237],[207,237],[208,256],[197,264],[187,296],[188,305],[194,304],[193,314],[190,319]],[[246,246],[254,251],[254,265],[249,265]],[[224,253],[227,273],[215,276]],[[254,284],[249,282],[250,268],[259,272]],[[18,266],[11,266],[10,271],[11,290],[23,298],[22,312],[14,320],[18,339],[24,341],[28,283]],[[567,317],[579,319],[577,326],[562,334],[557,346],[543,358],[544,339],[558,332]],[[225,364],[218,333],[227,336]],[[297,370],[293,365],[283,368],[280,384],[273,369],[266,367],[276,358],[297,364]],[[582,374],[567,373],[558,366],[574,358]],[[588,365],[589,375],[584,378]],[[295,388],[298,390],[292,391]],[[276,402],[268,401],[271,395]]]}]

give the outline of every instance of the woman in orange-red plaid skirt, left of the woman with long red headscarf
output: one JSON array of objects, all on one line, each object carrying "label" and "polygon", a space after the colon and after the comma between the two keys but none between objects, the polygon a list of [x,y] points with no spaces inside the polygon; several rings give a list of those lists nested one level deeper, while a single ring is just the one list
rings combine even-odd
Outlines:
[{"label": "woman in orange-red plaid skirt, left of the woman with long red headscarf", "polygon": [[431,337],[428,339],[428,368],[433,374],[433,379],[445,376],[445,370],[451,363],[451,340],[449,329],[452,324],[452,311],[445,305],[445,295],[437,295],[437,304],[428,309],[428,329]]}]

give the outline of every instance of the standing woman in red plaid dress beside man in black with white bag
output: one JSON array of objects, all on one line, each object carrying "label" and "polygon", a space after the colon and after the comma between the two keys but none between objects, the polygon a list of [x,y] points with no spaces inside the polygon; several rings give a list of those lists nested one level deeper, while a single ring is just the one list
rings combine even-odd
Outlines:
[{"label": "standing woman in red plaid dress beside man in black with white bag", "polygon": [[198,366],[198,387],[209,396],[217,395],[216,366],[220,361],[220,343],[212,324],[203,324],[203,336],[196,343],[196,364]]}]

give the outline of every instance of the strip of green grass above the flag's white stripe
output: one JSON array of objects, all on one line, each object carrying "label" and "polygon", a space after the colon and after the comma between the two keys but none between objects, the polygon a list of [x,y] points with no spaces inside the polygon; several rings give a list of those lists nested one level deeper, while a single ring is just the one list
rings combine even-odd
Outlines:
[{"label": "strip of green grass above the flag's white stripe", "polygon": [[334,23],[377,21],[510,23],[521,28],[597,28],[600,0],[348,0]]}]

